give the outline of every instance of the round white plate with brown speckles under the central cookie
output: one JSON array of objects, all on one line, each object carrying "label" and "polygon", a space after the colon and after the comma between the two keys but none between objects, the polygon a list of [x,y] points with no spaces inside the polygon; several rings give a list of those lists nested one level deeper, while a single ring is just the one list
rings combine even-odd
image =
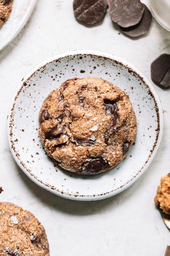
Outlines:
[{"label": "round white plate with brown speckles under the central cookie", "polygon": [[[137,136],[126,159],[106,173],[79,176],[55,167],[38,136],[38,113],[46,96],[69,78],[103,78],[124,90],[137,117]],[[11,102],[8,140],[20,168],[39,186],[75,200],[99,200],[132,185],[152,162],[163,133],[157,93],[143,74],[114,55],[73,51],[54,56],[31,70]]]}]

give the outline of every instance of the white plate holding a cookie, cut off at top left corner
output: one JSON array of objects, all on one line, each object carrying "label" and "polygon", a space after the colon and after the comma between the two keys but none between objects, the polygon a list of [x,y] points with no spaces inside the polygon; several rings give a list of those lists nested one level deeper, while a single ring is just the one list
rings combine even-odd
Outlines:
[{"label": "white plate holding a cookie, cut off at top left corner", "polygon": [[0,27],[0,50],[8,45],[23,29],[37,0],[13,0],[13,9],[8,20]]}]

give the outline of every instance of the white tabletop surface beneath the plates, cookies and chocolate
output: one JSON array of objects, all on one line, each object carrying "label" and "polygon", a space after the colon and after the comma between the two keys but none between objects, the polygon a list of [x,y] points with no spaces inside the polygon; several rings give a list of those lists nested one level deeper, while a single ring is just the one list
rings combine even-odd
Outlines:
[{"label": "white tabletop surface beneath the plates, cookies and chocolate", "polygon": [[170,90],[155,86],[164,109],[164,135],[153,163],[115,197],[93,202],[57,197],[30,181],[11,156],[6,118],[18,82],[42,60],[74,49],[114,53],[150,79],[150,63],[170,53],[170,32],[154,21],[149,35],[132,40],[119,35],[108,13],[102,24],[89,28],[74,19],[72,0],[38,0],[27,25],[0,52],[0,200],[35,214],[46,229],[51,256],[164,256],[170,232],[153,198],[160,177],[170,171]]}]

